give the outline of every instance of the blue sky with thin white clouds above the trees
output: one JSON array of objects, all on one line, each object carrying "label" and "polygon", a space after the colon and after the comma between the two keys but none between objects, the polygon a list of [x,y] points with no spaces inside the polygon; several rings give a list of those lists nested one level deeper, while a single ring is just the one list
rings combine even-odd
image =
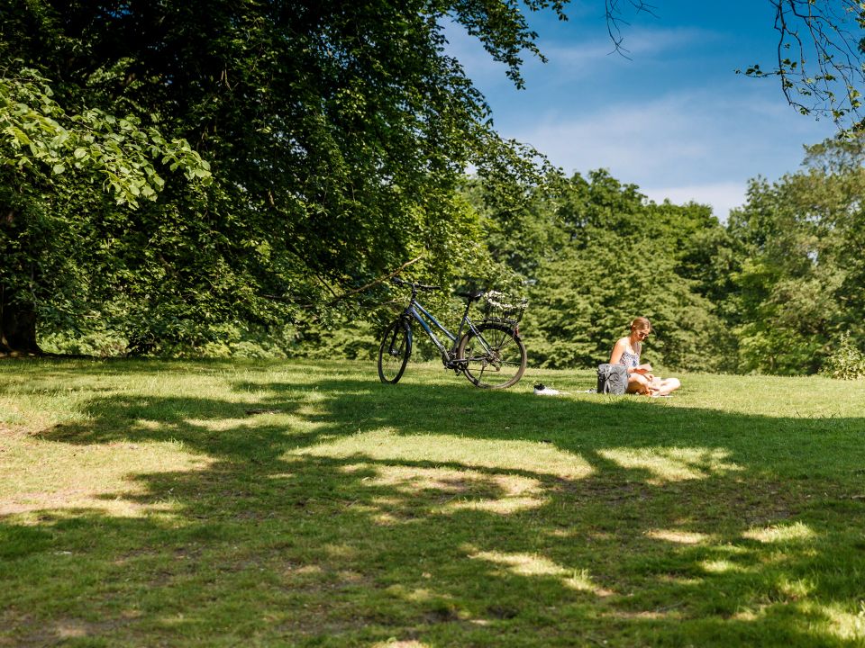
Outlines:
[{"label": "blue sky with thin white clouds above the trees", "polygon": [[725,220],[750,178],[796,171],[802,145],[831,136],[833,123],[788,106],[777,80],[735,74],[776,57],[769,0],[653,4],[654,16],[627,16],[630,59],[611,53],[602,0],[572,4],[564,23],[528,14],[549,61],[526,58],[524,90],[464,31],[446,33],[503,136],[569,174],[606,168],[651,200],[706,203]]}]

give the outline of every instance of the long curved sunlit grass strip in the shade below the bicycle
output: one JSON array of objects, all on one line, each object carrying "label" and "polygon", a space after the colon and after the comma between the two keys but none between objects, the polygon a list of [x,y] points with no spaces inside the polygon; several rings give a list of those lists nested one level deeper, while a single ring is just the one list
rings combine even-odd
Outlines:
[{"label": "long curved sunlit grass strip in the shade below the bicycle", "polygon": [[394,429],[345,437],[305,447],[293,455],[347,459],[368,457],[383,462],[459,464],[471,468],[525,471],[562,479],[585,479],[592,467],[580,455],[531,441],[478,439],[451,435],[401,435]]}]

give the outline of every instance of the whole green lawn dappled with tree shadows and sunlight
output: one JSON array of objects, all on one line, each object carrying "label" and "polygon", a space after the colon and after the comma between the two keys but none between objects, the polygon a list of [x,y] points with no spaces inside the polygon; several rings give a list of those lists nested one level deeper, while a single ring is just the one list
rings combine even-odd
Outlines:
[{"label": "whole green lawn dappled with tree shadows and sunlight", "polygon": [[2,362],[0,646],[865,645],[865,383],[681,377]]}]

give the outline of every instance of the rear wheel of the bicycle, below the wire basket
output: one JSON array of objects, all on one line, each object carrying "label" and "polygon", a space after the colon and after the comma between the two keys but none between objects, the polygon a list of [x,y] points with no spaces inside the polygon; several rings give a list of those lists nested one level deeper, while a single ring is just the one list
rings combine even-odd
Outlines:
[{"label": "rear wheel of the bicycle, below the wire basket", "polygon": [[477,333],[469,330],[457,354],[469,382],[485,389],[510,387],[525,371],[523,340],[504,324],[481,324]]}]

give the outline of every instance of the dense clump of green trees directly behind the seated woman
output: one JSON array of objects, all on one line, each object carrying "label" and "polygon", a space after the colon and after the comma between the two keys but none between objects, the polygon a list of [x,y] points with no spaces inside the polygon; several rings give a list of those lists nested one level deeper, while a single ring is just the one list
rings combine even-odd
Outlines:
[{"label": "dense clump of green trees directly behind the seated woman", "polygon": [[555,209],[569,240],[541,257],[525,326],[542,365],[597,364],[644,315],[658,334],[656,363],[718,368],[701,352],[723,326],[687,266],[704,232],[720,228],[706,207],[647,204],[633,185],[596,172],[571,178]]}]

